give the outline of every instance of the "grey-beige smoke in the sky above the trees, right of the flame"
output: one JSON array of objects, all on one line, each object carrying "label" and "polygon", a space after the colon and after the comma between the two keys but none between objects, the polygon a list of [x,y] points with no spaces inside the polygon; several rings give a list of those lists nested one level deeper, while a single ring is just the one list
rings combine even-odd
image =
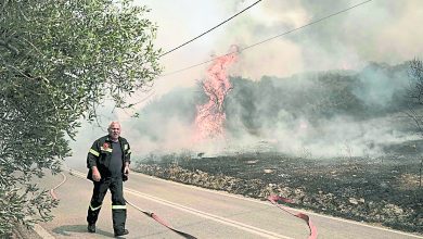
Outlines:
[{"label": "grey-beige smoke in the sky above the trees, right of the flame", "polygon": [[[229,24],[218,46],[241,49],[304,26],[361,1],[262,1]],[[228,3],[227,11],[251,2]],[[421,56],[423,2],[371,1],[316,25],[247,49],[235,74],[290,76],[304,71],[357,70],[368,62],[398,64]],[[258,61],[259,59],[259,61]]]}]

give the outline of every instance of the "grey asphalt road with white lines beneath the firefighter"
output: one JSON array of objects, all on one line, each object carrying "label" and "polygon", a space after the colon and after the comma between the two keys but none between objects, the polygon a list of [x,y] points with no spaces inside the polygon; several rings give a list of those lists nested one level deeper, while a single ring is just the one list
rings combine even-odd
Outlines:
[{"label": "grey asphalt road with white lines beneath the firefighter", "polygon": [[[47,176],[40,181],[54,188],[60,199],[54,219],[37,226],[42,238],[113,238],[111,194],[103,202],[97,234],[87,232],[86,215],[92,183],[85,172]],[[125,198],[143,211],[154,212],[174,228],[196,238],[308,238],[307,224],[269,202],[131,173],[124,185]],[[299,212],[292,209],[292,212]],[[318,238],[423,238],[362,223],[304,212],[310,216]],[[183,238],[128,205],[125,238]]]}]

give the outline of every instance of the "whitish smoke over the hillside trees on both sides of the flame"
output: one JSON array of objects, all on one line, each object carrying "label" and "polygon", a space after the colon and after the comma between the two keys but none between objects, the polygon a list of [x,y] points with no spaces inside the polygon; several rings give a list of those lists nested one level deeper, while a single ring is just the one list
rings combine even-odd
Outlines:
[{"label": "whitish smoke over the hillside trees on both sides of the flame", "polygon": [[151,102],[132,124],[143,154],[278,151],[307,158],[381,156],[390,144],[416,140],[403,116],[408,65],[372,63],[360,72],[330,71],[251,80],[231,77],[226,138],[192,141],[201,86]]}]

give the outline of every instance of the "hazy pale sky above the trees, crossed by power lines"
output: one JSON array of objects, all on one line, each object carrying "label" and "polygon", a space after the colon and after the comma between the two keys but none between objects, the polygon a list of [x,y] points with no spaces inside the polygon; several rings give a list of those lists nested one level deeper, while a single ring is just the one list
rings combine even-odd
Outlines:
[{"label": "hazy pale sky above the trees, crossed by power lines", "polygon": [[[197,40],[161,59],[164,74],[228,53],[231,46],[243,49],[328,16],[364,0],[262,0],[243,14]],[[136,0],[158,26],[156,48],[164,52],[192,39],[229,18],[256,0]],[[242,51],[230,68],[231,76],[259,80],[262,76],[289,77],[303,72],[359,71],[369,62],[398,64],[423,56],[423,1],[373,0],[348,12]],[[148,93],[137,93],[137,110],[176,87],[192,87],[205,77],[208,64],[169,74],[155,80]],[[137,138],[125,128],[137,124],[131,112],[104,108],[104,127],[110,120],[123,124],[123,135]],[[104,129],[82,124],[72,142],[78,161],[85,161],[90,143]],[[84,148],[85,147],[85,148]]]}]

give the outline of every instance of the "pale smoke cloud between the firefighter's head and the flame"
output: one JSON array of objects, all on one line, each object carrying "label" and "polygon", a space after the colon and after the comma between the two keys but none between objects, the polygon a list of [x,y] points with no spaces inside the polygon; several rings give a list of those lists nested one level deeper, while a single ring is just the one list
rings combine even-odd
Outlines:
[{"label": "pale smoke cloud between the firefighter's head and the flame", "polygon": [[[176,88],[157,97],[126,122],[126,137],[138,153],[175,152],[192,146],[198,91]],[[124,135],[125,137],[125,135]]]}]

